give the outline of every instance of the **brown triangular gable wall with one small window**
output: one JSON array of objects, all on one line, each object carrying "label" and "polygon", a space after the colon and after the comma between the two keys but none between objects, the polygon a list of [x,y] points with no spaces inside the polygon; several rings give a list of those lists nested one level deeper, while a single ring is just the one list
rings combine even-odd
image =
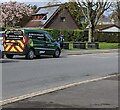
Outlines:
[{"label": "brown triangular gable wall with one small window", "polygon": [[[54,22],[53,22],[54,21]],[[50,22],[45,26],[46,28],[54,29],[79,29],[78,24],[69,12],[68,8],[63,6],[58,13],[53,16]]]}]

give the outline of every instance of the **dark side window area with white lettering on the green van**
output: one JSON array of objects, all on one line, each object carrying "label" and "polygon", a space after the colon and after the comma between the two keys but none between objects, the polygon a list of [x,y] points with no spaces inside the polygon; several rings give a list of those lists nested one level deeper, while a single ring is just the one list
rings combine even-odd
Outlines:
[{"label": "dark side window area with white lettering on the green van", "polygon": [[32,33],[29,33],[28,36],[30,39],[33,39],[33,40],[46,41],[46,37],[43,33],[32,32]]}]

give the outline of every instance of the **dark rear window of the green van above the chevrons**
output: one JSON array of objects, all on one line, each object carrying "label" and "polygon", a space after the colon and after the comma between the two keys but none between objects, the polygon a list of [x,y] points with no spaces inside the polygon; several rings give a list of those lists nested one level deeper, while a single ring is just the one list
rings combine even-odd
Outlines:
[{"label": "dark rear window of the green van above the chevrons", "polygon": [[22,31],[7,31],[5,36],[5,40],[23,40],[23,32]]}]

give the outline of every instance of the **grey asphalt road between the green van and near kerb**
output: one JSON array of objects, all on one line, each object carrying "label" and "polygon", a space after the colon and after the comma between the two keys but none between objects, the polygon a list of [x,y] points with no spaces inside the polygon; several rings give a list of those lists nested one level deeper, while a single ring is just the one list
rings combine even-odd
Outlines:
[{"label": "grey asphalt road between the green van and near kerb", "polygon": [[3,99],[118,72],[118,53],[72,55],[2,63]]}]

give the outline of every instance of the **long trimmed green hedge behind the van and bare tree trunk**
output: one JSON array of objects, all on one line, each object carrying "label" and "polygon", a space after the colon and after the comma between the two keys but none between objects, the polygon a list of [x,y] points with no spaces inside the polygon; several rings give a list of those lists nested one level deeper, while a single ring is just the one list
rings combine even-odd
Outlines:
[{"label": "long trimmed green hedge behind the van and bare tree trunk", "polygon": [[[41,28],[32,28],[35,30],[41,30]],[[42,29],[50,32],[54,39],[58,39],[60,35],[65,36],[66,42],[85,42],[88,41],[88,31],[83,30],[56,30],[56,29]],[[120,43],[120,32],[95,32],[95,42],[108,42],[108,43]]]}]

